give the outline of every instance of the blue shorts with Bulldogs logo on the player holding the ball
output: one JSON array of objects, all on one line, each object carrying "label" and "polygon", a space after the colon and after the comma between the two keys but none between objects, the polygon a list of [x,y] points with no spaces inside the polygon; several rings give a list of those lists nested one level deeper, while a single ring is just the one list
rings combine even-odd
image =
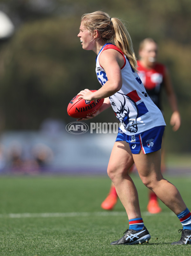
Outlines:
[{"label": "blue shorts with Bulldogs logo on the player holding the ball", "polygon": [[129,143],[132,154],[139,154],[141,149],[144,154],[148,154],[161,148],[164,130],[165,126],[157,126],[145,132],[126,135],[119,128],[116,141],[126,141]]}]

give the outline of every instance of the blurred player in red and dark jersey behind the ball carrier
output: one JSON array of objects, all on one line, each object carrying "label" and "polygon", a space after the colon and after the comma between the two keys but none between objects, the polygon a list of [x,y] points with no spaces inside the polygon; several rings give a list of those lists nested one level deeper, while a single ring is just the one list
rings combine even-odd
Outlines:
[{"label": "blurred player in red and dark jersey behind the ball carrier", "polygon": [[[169,105],[173,112],[170,118],[170,124],[173,126],[173,131],[177,131],[180,127],[181,120],[176,96],[166,66],[156,61],[157,53],[158,45],[152,38],[145,38],[140,42],[139,60],[137,61],[138,74],[145,86],[146,92],[161,112],[163,112],[161,106],[161,91],[162,88],[165,89]],[[165,168],[164,147],[162,147],[161,170],[164,172]],[[117,192],[112,183],[110,192],[107,198],[102,202],[101,207],[104,210],[112,210],[117,203],[117,198]],[[159,207],[156,194],[151,190],[149,190],[147,210],[152,214],[159,213],[162,210]]]}]

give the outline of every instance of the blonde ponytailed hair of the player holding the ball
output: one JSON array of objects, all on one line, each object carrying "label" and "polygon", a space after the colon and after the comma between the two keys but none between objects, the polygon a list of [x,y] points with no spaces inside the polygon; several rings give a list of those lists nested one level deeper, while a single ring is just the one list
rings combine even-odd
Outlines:
[{"label": "blonde ponytailed hair of the player holding the ball", "polygon": [[137,71],[137,60],[129,32],[118,18],[110,18],[103,11],[95,11],[82,15],[81,21],[88,31],[99,31],[101,38],[117,46],[129,59],[131,67]]}]

